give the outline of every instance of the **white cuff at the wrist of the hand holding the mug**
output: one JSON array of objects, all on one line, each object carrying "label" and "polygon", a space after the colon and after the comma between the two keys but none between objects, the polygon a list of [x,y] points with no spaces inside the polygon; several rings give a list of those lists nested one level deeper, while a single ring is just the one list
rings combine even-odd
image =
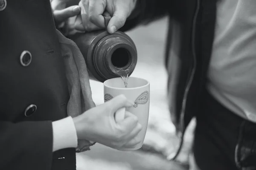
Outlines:
[{"label": "white cuff at the wrist of the hand holding the mug", "polygon": [[76,127],[71,116],[52,122],[53,152],[56,150],[77,147]]}]

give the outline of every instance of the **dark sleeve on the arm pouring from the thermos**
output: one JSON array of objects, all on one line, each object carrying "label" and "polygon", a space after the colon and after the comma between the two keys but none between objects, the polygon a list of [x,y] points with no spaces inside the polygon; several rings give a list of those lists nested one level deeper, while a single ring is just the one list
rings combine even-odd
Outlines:
[{"label": "dark sleeve on the arm pouring from the thermos", "polygon": [[120,31],[128,31],[138,25],[146,25],[166,16],[175,6],[175,0],[137,0],[137,5]]}]

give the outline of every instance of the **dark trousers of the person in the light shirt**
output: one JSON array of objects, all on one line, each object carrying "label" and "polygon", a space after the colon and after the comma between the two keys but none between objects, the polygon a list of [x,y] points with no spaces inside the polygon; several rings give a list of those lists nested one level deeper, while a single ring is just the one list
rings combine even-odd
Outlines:
[{"label": "dark trousers of the person in the light shirt", "polygon": [[256,124],[232,113],[208,92],[197,114],[194,156],[201,170],[256,170]]}]

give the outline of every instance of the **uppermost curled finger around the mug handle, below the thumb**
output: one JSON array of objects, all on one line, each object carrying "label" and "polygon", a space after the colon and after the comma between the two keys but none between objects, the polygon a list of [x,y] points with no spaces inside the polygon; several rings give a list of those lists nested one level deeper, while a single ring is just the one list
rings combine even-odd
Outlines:
[{"label": "uppermost curled finger around the mug handle, below the thumb", "polygon": [[138,118],[134,114],[125,111],[125,119],[116,124],[121,127],[120,129],[122,129],[123,133],[129,134],[135,127],[137,127]]}]

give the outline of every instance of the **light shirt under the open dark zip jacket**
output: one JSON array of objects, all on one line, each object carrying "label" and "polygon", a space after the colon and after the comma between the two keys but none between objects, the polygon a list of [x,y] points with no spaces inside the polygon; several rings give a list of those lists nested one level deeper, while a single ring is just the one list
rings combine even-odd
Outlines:
[{"label": "light shirt under the open dark zip jacket", "polygon": [[210,93],[256,122],[256,0],[220,0],[209,65]]}]

